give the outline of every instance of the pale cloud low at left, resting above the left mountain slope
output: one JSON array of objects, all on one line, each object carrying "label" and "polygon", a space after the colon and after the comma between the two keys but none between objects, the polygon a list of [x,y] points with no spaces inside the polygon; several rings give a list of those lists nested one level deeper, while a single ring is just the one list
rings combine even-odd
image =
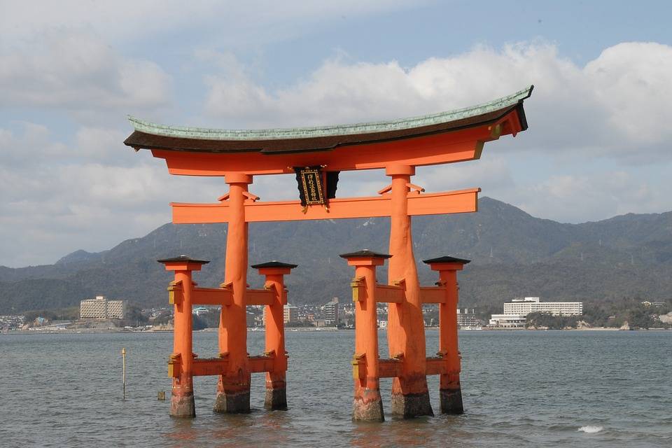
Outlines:
[{"label": "pale cloud low at left, resting above the left mountain slope", "polygon": [[82,127],[68,143],[34,123],[0,128],[0,265],[101,251],[170,221],[170,201],[214,202],[226,190],[221,179],[170,176],[122,135]]}]

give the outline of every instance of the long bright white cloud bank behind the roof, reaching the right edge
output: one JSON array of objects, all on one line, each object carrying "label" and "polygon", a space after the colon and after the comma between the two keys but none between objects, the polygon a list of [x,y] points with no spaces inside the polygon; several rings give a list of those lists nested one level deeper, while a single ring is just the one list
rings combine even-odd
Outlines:
[{"label": "long bright white cloud bank behind the roof, reaching the right edge", "polygon": [[[353,123],[470,106],[535,84],[530,129],[507,149],[615,156],[646,162],[643,149],[670,158],[672,47],[621,43],[585,66],[554,45],[477,47],[405,68],[398,62],[328,59],[295,85],[269,91],[235,60],[235,71],[205,78],[206,113],[253,127]],[[234,73],[234,74],[232,74]],[[487,148],[486,148],[486,151]],[[653,161],[653,160],[651,160]]]}]

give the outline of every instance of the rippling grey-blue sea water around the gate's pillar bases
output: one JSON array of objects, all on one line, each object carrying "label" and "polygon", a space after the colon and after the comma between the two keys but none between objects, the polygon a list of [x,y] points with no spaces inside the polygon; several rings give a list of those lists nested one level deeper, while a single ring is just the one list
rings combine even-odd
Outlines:
[{"label": "rippling grey-blue sea water around the gate's pillar bases", "polygon": [[[195,333],[196,353],[214,356],[216,338]],[[432,354],[437,332],[427,340]],[[216,379],[200,377],[197,417],[179,420],[156,399],[170,393],[170,333],[0,335],[0,446],[672,447],[672,332],[461,332],[466,413],[384,423],[350,419],[353,342],[351,331],[288,331],[288,411],[263,409],[254,374],[253,412],[214,414]],[[248,334],[250,353],[262,344]],[[436,412],[437,377],[429,384]]]}]

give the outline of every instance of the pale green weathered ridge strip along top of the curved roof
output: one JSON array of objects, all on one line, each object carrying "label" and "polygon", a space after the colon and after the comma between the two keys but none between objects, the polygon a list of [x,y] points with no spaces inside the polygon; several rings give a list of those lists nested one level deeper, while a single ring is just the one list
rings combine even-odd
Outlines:
[{"label": "pale green weathered ridge strip along top of the curved roof", "polygon": [[479,116],[484,113],[498,111],[514,106],[532,94],[533,85],[519,90],[514,94],[477,106],[465,107],[454,111],[433,113],[431,115],[401,118],[398,120],[377,121],[372,123],[356,123],[353,125],[328,125],[315,127],[290,127],[261,130],[221,130],[203,127],[183,127],[158,125],[129,116],[134,129],[146,134],[183,139],[203,140],[277,140],[277,139],[309,139],[314,137],[331,137],[339,135],[368,134],[373,132],[389,132],[407,130],[415,127],[437,125],[463,118]]}]

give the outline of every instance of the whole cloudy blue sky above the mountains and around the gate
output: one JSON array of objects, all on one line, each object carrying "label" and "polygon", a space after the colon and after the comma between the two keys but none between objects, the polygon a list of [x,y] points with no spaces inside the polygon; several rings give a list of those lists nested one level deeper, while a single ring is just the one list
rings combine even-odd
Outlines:
[{"label": "whole cloudy blue sky above the mountains and around the gate", "polygon": [[[540,218],[672,210],[668,1],[0,0],[0,265],[102,251],[216,202],[123,145],[127,116],[263,128],[447,111],[535,85],[529,129],[422,167],[428,192],[482,188]],[[258,176],[262,200],[292,176]],[[384,172],[346,173],[374,195]]]}]

